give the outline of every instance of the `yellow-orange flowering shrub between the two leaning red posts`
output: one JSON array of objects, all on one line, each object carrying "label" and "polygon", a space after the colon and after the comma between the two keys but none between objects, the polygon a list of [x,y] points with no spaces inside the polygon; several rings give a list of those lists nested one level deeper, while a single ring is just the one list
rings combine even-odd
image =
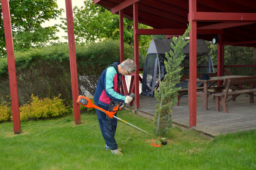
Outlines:
[{"label": "yellow-orange flowering shrub between the two leaning red posts", "polygon": [[48,97],[39,99],[38,96],[31,95],[31,100],[19,107],[20,120],[38,120],[39,118],[57,117],[68,113],[67,108],[63,104],[63,99]]}]

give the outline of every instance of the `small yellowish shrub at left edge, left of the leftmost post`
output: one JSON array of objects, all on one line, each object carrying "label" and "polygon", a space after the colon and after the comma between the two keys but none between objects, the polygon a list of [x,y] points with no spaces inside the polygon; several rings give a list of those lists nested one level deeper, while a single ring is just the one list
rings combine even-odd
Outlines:
[{"label": "small yellowish shrub at left edge, left of the leftmost post", "polygon": [[3,98],[0,100],[0,123],[12,121],[12,112],[10,102],[6,102]]}]

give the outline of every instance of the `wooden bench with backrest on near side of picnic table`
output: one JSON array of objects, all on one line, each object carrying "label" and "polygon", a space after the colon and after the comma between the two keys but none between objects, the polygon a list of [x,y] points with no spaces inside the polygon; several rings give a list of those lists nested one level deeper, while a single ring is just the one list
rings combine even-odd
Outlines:
[{"label": "wooden bench with backrest on near side of picnic table", "polygon": [[[212,96],[215,96],[215,110],[219,112],[219,107],[220,105],[222,105],[224,113],[228,113],[227,102],[229,102],[232,99],[235,99],[235,97],[239,96],[240,94],[249,94],[250,103],[253,103],[253,93],[256,92],[256,88],[253,88],[253,83],[255,82],[256,76],[224,79],[223,85],[226,86],[225,91],[221,93],[212,94]],[[249,83],[250,86],[248,88],[238,86],[245,83]],[[230,88],[233,91],[229,91]],[[227,100],[228,96],[232,96],[232,98]]]}]

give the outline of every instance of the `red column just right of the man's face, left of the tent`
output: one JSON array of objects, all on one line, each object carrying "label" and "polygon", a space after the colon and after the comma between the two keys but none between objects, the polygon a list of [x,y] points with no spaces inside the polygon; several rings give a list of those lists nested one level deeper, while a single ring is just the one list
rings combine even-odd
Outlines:
[{"label": "red column just right of the man's face, left of the tent", "polygon": [[134,62],[136,71],[134,76],[135,81],[135,109],[139,108],[139,35],[138,31],[138,3],[133,4],[133,36],[134,36]]}]

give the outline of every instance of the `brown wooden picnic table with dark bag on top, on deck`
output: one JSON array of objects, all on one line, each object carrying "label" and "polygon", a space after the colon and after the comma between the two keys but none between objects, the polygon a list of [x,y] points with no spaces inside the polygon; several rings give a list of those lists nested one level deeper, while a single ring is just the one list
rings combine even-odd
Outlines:
[{"label": "brown wooden picnic table with dark bag on top, on deck", "polygon": [[[208,80],[201,80],[199,78],[196,79],[196,82],[201,82],[203,83],[204,86],[204,90],[202,92],[196,92],[196,96],[203,96],[204,97],[204,110],[208,109],[208,89],[212,86],[215,85],[215,83],[217,81],[224,81],[224,79],[228,79],[228,78],[243,78],[243,77],[247,77],[247,76],[238,76],[238,75],[231,75],[231,76],[216,76],[216,77],[211,77]],[[188,81],[188,106],[189,106],[189,79],[186,79],[186,81]],[[222,88],[217,88],[218,86],[216,86],[217,90],[214,90],[214,92],[222,92]]]}]

